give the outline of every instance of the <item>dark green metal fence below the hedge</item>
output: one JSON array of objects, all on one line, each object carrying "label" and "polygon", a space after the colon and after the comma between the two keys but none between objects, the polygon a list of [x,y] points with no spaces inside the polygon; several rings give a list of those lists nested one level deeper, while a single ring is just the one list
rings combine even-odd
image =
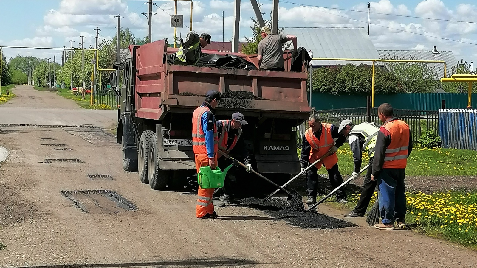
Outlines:
[{"label": "dark green metal fence below the hedge", "polygon": [[[366,106],[365,95],[331,95],[313,92],[311,104],[316,110],[347,109]],[[374,104],[390,103],[394,109],[438,111],[445,100],[446,109],[467,107],[467,93],[398,93],[376,94]],[[477,93],[472,94],[472,107],[477,107]]]}]

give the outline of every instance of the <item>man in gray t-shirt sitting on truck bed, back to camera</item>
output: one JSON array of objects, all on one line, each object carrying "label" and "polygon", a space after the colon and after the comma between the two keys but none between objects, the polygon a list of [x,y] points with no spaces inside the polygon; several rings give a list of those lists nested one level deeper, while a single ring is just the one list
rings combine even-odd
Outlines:
[{"label": "man in gray t-shirt sitting on truck bed, back to camera", "polygon": [[297,50],[297,37],[290,34],[271,34],[268,26],[261,28],[262,41],[259,42],[258,56],[259,69],[266,71],[285,71],[283,60],[283,44],[293,42],[293,52]]}]

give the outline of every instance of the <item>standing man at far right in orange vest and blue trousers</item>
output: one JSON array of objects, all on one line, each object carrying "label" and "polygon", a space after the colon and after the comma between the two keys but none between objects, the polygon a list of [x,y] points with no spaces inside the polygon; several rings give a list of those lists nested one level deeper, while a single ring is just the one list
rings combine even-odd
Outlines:
[{"label": "standing man at far right in orange vest and blue trousers", "polygon": [[394,230],[394,220],[400,228],[406,224],[404,173],[413,142],[409,125],[393,116],[393,107],[389,103],[379,105],[378,117],[384,124],[379,129],[374,146],[371,179],[378,181],[382,222],[374,227]]}]

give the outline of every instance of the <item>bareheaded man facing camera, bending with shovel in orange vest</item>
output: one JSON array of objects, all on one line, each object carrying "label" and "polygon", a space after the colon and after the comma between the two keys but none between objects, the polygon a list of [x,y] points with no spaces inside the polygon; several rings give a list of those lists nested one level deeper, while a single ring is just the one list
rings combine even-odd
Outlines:
[{"label": "bareheaded man facing camera, bending with shovel in orange vest", "polygon": [[[307,205],[316,203],[316,192],[318,188],[318,169],[324,165],[330,176],[330,183],[337,188],[343,183],[343,178],[338,169],[338,156],[336,152],[338,147],[344,144],[346,137],[340,134],[338,127],[333,124],[321,123],[318,115],[312,114],[308,119],[310,128],[305,131],[303,136],[303,144],[301,147],[301,171],[307,166],[320,159],[323,155],[331,151],[332,154],[323,158],[322,162],[318,162],[307,171],[308,199]],[[335,141],[336,139],[336,141]],[[342,204],[347,203],[346,193],[339,189],[336,191],[336,200]]]}]

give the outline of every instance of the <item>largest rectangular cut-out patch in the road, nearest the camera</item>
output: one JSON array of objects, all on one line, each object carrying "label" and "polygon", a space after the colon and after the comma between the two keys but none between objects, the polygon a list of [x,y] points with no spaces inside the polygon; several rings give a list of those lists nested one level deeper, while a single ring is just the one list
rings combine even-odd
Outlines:
[{"label": "largest rectangular cut-out patch in the road, nearest the camera", "polygon": [[129,200],[112,190],[73,190],[61,191],[74,206],[86,213],[116,214],[121,211],[137,210]]}]

